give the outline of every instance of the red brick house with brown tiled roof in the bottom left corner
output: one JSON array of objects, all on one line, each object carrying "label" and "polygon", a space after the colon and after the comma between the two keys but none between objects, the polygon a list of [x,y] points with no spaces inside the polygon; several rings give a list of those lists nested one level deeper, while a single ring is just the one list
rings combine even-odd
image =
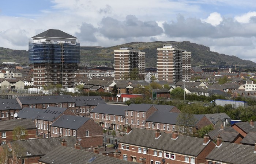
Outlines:
[{"label": "red brick house with brown tiled roof in the bottom left corner", "polygon": [[[35,164],[57,145],[74,148],[79,146],[76,142],[74,136],[10,141],[7,145],[1,145],[0,153],[9,153],[9,163]],[[8,152],[8,150],[11,150],[11,152]]]}]

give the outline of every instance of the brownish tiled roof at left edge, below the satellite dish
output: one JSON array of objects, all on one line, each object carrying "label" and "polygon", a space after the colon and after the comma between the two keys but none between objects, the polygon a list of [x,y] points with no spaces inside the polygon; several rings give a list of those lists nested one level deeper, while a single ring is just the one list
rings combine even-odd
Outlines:
[{"label": "brownish tiled roof at left edge, below the satellite dish", "polygon": [[0,121],[0,131],[10,131],[17,126],[22,126],[25,129],[37,128],[33,120],[30,119]]}]

